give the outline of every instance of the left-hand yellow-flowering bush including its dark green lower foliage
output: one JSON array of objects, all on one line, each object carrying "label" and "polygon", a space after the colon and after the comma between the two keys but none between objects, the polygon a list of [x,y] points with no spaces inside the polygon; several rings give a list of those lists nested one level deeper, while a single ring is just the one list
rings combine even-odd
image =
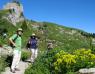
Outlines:
[{"label": "left-hand yellow-flowering bush including its dark green lower foliage", "polygon": [[61,50],[55,55],[54,73],[70,72],[72,66],[76,63],[76,56]]}]

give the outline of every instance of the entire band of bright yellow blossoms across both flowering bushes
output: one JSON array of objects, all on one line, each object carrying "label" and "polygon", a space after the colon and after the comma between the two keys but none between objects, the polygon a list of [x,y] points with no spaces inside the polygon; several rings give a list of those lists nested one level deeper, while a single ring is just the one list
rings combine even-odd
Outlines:
[{"label": "entire band of bright yellow blossoms across both flowering bushes", "polygon": [[67,68],[72,68],[72,65],[81,64],[81,62],[86,62],[88,65],[95,65],[95,54],[90,49],[78,49],[72,54],[61,50],[55,55],[55,59],[55,70],[59,70],[62,65],[65,65]]}]

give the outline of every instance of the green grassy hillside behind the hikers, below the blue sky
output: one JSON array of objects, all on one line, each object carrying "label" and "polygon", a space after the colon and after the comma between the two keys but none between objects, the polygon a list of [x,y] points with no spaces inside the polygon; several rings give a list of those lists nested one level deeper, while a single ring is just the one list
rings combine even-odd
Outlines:
[{"label": "green grassy hillside behind the hikers, below the blue sky", "polygon": [[[6,14],[6,13],[4,13]],[[3,16],[1,14],[0,16]],[[41,24],[42,23],[42,24]],[[35,24],[38,26],[35,28]],[[34,25],[34,27],[33,27]],[[17,26],[13,26],[10,22],[0,17],[0,28],[6,28],[8,30],[8,38],[15,33],[18,27],[22,27],[24,30],[23,38],[23,47],[25,47],[29,36],[32,33],[36,33],[39,40],[39,49],[46,49],[46,42],[48,40],[53,41],[54,47],[59,49],[78,49],[78,48],[90,48],[90,39],[89,37],[83,36],[81,30],[69,28],[65,26],[60,26],[54,23],[49,22],[35,22],[26,20],[24,22],[17,23]],[[43,33],[42,33],[43,32]],[[84,33],[84,32],[83,32]],[[6,44],[7,39],[2,40],[0,36],[0,44]]]}]

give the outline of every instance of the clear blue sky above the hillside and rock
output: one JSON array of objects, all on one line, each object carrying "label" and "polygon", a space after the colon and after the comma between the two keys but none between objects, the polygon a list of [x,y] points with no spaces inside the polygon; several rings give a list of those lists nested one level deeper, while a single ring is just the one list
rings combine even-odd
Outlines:
[{"label": "clear blue sky above the hillside and rock", "polygon": [[[12,0],[0,0],[0,9]],[[19,0],[27,19],[95,33],[95,0]]]}]

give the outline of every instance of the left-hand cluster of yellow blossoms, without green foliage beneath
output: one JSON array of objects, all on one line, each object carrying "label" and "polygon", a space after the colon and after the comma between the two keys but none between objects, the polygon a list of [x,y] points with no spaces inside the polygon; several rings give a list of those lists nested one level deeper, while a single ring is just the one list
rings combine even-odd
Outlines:
[{"label": "left-hand cluster of yellow blossoms, without green foliage beneath", "polygon": [[58,67],[61,64],[66,64],[66,66],[69,67],[71,64],[76,63],[76,56],[64,52],[63,50],[57,53],[55,58],[57,59],[56,62],[54,62],[55,70],[58,70]]}]

